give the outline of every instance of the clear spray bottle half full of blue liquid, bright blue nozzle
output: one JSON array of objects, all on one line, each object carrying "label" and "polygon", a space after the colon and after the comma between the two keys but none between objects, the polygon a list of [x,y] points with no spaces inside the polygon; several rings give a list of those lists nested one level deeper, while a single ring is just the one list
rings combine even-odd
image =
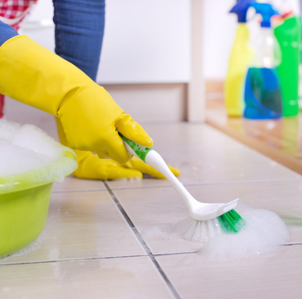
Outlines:
[{"label": "clear spray bottle half full of blue liquid, bright blue nozzle", "polygon": [[244,117],[280,118],[282,98],[276,67],[281,62],[281,51],[271,28],[271,17],[278,11],[268,3],[251,3],[250,7],[262,15],[262,22],[255,45],[255,61],[246,75]]}]

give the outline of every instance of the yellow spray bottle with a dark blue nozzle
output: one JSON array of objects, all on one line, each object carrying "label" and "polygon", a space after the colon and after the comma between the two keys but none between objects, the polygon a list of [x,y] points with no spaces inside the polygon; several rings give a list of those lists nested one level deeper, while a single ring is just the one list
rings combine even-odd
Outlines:
[{"label": "yellow spray bottle with a dark blue nozzle", "polygon": [[253,49],[249,45],[249,30],[246,26],[246,13],[253,2],[255,0],[240,0],[230,10],[230,13],[238,15],[238,27],[224,88],[226,111],[229,116],[239,117],[243,114],[244,82],[253,58]]}]

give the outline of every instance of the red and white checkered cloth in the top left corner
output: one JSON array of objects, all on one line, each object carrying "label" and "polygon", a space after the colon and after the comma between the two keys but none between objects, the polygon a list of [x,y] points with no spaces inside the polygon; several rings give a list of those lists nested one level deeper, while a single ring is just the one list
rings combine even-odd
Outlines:
[{"label": "red and white checkered cloth in the top left corner", "polygon": [[0,18],[0,20],[18,30],[20,22],[37,1],[38,0],[0,0],[0,17],[5,18],[5,20],[2,18]]}]

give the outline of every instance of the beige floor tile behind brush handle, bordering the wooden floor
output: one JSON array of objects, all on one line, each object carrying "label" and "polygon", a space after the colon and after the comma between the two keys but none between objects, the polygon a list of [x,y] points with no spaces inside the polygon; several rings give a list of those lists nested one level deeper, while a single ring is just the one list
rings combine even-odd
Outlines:
[{"label": "beige floor tile behind brush handle, bordering the wooden floor", "polygon": [[[206,125],[146,126],[154,149],[181,170],[184,184],[297,178],[294,171]],[[120,180],[111,188],[169,185],[166,180]]]}]

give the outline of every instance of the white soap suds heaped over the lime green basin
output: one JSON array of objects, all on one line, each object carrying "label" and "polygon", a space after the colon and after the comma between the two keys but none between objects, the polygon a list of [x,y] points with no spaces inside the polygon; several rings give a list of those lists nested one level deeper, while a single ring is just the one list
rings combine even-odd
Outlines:
[{"label": "white soap suds heaped over the lime green basin", "polygon": [[64,157],[71,149],[31,124],[0,120],[1,190],[16,182],[62,182],[76,169],[76,161]]}]

